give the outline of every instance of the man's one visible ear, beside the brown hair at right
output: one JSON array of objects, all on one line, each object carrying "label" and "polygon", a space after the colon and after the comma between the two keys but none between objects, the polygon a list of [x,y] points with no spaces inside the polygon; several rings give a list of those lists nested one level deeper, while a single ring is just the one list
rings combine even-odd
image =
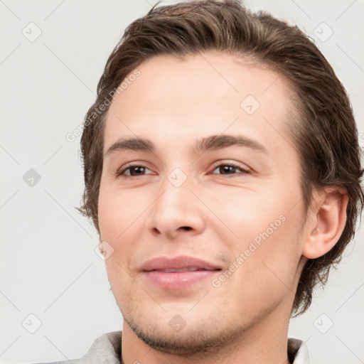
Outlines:
[{"label": "man's one visible ear, beside the brown hair at right", "polygon": [[312,206],[302,251],[308,259],[321,257],[338,242],[346,224],[348,193],[345,188],[324,188],[314,194]]}]

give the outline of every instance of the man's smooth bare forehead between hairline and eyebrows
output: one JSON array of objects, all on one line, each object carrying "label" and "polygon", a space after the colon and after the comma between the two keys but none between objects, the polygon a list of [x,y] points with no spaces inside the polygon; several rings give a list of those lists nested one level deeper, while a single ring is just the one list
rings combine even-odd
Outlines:
[{"label": "man's smooth bare forehead between hairline and eyebrows", "polygon": [[109,107],[104,151],[120,136],[184,143],[227,129],[282,143],[293,106],[287,82],[273,70],[218,52],[159,55],[137,70]]}]

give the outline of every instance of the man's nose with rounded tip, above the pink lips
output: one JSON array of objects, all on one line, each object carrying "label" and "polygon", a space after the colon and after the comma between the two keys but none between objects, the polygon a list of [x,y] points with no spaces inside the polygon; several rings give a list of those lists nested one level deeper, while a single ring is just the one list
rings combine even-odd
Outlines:
[{"label": "man's nose with rounded tip, above the pink lips", "polygon": [[192,188],[189,178],[181,185],[174,186],[166,178],[158,188],[156,200],[149,209],[146,228],[153,235],[168,240],[181,234],[197,235],[205,228],[204,205],[198,200],[198,188]]}]

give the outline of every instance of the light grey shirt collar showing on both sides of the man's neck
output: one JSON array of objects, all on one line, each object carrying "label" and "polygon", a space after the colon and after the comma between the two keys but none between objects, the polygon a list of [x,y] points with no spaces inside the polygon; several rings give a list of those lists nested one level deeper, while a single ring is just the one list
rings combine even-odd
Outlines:
[{"label": "light grey shirt collar showing on both sides of the man's neck", "polygon": [[[291,364],[310,364],[309,351],[303,341],[288,338],[287,352]],[[39,364],[121,364],[120,358],[122,358],[122,331],[113,331],[97,338],[80,359]]]}]

